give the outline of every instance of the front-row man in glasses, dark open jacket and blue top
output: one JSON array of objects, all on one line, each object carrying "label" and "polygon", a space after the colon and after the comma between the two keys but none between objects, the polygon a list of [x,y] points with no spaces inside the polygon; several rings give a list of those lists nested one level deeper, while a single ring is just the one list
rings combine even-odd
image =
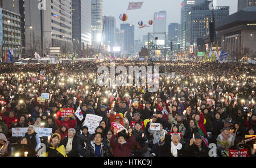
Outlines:
[{"label": "front-row man in glasses, dark open jacket and blue top", "polygon": [[90,142],[90,145],[86,148],[85,156],[88,157],[110,157],[110,149],[108,144],[104,144],[104,139],[101,132],[97,132],[94,135],[94,140]]}]

